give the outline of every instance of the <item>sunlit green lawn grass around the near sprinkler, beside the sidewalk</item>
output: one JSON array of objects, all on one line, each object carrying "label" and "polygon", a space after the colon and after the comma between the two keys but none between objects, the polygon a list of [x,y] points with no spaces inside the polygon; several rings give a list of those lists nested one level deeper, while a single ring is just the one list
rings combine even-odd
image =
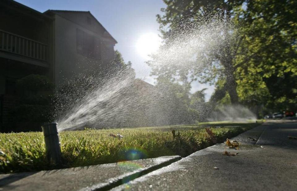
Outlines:
[{"label": "sunlit green lawn grass around the near sprinkler, beside the sidewalk", "polygon": [[[232,127],[226,123],[220,124],[221,128],[215,128],[217,124],[203,124],[60,132],[62,168],[167,155],[184,157],[213,145],[205,132],[205,125],[213,125],[213,133],[222,142],[258,124],[237,123],[238,127]],[[175,137],[171,132],[173,129]],[[120,133],[124,138],[111,137],[111,133]],[[54,168],[46,161],[42,132],[0,133],[0,172]]]}]

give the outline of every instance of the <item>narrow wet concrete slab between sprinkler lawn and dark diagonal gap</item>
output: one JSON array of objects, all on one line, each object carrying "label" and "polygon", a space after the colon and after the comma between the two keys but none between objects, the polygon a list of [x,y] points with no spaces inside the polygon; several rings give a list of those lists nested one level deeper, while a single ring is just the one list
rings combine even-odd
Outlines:
[{"label": "narrow wet concrete slab between sprinkler lawn and dark diagonal gap", "polygon": [[181,159],[153,159],[30,173],[0,174],[0,190],[107,190]]}]

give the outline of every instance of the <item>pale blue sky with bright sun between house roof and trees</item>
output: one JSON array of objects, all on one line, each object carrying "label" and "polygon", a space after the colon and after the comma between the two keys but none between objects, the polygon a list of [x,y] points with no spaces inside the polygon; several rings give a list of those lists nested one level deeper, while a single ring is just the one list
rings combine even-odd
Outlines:
[{"label": "pale blue sky with bright sun between house roof and trees", "polygon": [[[118,41],[114,50],[118,50],[125,60],[131,61],[136,78],[154,84],[150,76],[150,67],[145,63],[147,54],[156,51],[161,39],[156,15],[162,14],[166,5],[162,0],[16,0],[39,12],[46,10],[90,11],[105,29]],[[149,39],[149,40],[148,40]],[[214,87],[207,84],[192,83],[191,93],[208,88],[206,101]]]}]

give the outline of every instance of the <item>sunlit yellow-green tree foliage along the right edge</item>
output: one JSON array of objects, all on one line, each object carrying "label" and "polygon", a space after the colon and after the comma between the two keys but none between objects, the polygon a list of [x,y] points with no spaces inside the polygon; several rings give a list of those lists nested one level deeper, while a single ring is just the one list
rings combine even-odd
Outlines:
[{"label": "sunlit yellow-green tree foliage along the right edge", "polygon": [[297,2],[247,1],[236,10],[242,44],[235,58],[241,102],[296,109]]}]

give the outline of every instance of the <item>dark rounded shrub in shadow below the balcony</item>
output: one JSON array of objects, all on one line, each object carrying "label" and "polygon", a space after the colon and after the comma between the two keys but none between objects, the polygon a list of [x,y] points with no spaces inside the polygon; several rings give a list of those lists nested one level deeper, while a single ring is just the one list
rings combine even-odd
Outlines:
[{"label": "dark rounded shrub in shadow below the balcony", "polygon": [[18,104],[11,108],[11,128],[6,131],[40,131],[41,124],[51,117],[54,84],[42,75],[28,75],[16,82]]}]

